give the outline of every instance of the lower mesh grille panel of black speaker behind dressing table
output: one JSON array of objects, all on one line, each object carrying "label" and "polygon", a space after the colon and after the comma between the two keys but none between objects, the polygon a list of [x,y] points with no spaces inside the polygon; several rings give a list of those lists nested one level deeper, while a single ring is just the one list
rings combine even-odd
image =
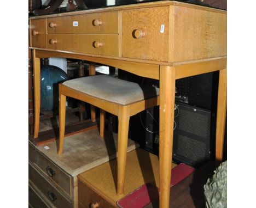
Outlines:
[{"label": "lower mesh grille panel of black speaker behind dressing table", "polygon": [[195,162],[205,159],[206,144],[181,134],[178,136],[177,154]]}]

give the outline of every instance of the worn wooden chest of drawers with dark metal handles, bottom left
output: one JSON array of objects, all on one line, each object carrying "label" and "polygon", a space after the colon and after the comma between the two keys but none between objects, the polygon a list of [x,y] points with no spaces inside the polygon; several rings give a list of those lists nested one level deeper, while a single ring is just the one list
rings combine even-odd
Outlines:
[{"label": "worn wooden chest of drawers with dark metal handles, bottom left", "polygon": [[[112,135],[112,136],[111,136]],[[113,144],[106,145],[105,142]],[[116,156],[117,134],[104,139],[97,129],[65,138],[66,148],[57,155],[56,142],[28,144],[29,203],[31,207],[78,207],[77,175]],[[127,151],[138,146],[129,140]]]}]

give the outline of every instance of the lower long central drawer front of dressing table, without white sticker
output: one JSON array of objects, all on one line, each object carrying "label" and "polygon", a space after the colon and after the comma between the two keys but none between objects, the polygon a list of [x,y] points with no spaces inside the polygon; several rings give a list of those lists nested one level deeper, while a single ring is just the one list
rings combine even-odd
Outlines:
[{"label": "lower long central drawer front of dressing table, without white sticker", "polygon": [[118,56],[118,35],[47,35],[47,48],[60,51]]}]

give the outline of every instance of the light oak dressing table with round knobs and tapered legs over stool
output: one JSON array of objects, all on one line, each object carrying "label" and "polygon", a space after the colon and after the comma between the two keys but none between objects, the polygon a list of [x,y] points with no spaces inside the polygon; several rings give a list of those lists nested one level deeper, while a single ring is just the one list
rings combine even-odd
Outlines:
[{"label": "light oak dressing table with round knobs and tapered legs over stool", "polygon": [[159,79],[160,207],[169,207],[175,80],[219,71],[216,160],[226,117],[226,11],[175,1],[30,18],[34,70],[34,138],[40,114],[40,58],[65,57]]}]

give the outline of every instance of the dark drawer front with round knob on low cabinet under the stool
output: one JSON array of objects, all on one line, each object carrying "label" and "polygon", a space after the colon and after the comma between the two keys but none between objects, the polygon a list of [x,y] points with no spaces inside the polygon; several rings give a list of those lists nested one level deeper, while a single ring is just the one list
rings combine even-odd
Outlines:
[{"label": "dark drawer front with round knob on low cabinet under the stool", "polygon": [[102,208],[113,208],[117,207],[110,204],[107,200],[98,195],[91,188],[86,186],[82,181],[78,180],[78,203],[79,208],[84,207],[102,207]]}]

